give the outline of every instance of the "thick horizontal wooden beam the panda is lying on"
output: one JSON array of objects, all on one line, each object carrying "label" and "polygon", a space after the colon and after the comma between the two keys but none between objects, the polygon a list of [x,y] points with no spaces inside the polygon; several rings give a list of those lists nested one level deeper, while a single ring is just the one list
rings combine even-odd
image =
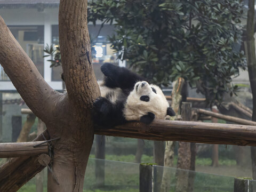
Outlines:
[{"label": "thick horizontal wooden beam the panda is lying on", "polygon": [[111,129],[95,127],[95,134],[158,141],[256,146],[256,126],[155,120],[146,125],[131,122]]}]

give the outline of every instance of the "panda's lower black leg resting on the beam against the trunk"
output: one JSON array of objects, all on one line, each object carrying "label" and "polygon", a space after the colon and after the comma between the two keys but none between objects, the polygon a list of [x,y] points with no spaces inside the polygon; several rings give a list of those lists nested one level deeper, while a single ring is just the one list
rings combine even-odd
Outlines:
[{"label": "panda's lower black leg resting on the beam against the trunk", "polygon": [[93,103],[93,119],[98,125],[113,127],[126,123],[123,116],[123,103],[112,103],[108,99],[99,97]]}]

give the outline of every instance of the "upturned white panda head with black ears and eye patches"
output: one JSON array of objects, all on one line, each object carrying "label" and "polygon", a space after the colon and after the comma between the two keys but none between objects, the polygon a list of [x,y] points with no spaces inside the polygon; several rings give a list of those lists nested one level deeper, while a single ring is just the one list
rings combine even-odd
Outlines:
[{"label": "upturned white panda head with black ears and eye patches", "polygon": [[166,115],[174,116],[175,113],[160,87],[145,81],[137,82],[124,106],[125,119],[142,121],[146,118],[146,121],[142,122],[151,123],[154,118],[165,119]]}]

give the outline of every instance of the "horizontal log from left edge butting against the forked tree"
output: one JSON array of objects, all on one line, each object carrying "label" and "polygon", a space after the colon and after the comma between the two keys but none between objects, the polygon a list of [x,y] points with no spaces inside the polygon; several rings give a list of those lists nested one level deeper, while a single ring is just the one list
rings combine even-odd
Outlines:
[{"label": "horizontal log from left edge butting against the forked tree", "polygon": [[44,143],[43,145],[38,147],[34,147],[34,145],[37,145],[39,143],[42,143],[42,141],[0,143],[0,158],[36,156],[39,154],[47,154],[47,143]]}]

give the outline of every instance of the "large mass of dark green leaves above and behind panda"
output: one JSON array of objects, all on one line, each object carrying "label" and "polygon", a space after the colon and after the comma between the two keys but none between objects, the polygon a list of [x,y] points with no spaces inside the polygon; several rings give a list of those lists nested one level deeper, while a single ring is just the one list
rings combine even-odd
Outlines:
[{"label": "large mass of dark green leaves above and behind panda", "polygon": [[183,77],[214,102],[234,93],[231,77],[245,69],[235,49],[242,14],[238,0],[97,0],[89,3],[88,20],[114,23],[109,41],[119,59],[153,83]]}]

